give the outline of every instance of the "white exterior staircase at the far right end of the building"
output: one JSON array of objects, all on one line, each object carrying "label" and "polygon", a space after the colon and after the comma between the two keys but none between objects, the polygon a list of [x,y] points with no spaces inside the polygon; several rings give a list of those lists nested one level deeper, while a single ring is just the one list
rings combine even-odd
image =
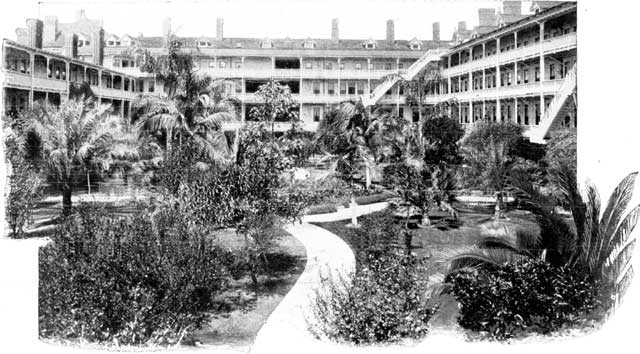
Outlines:
[{"label": "white exterior staircase at the far right end of the building", "polygon": [[540,120],[540,125],[527,133],[531,142],[543,144],[545,138],[551,132],[551,128],[555,124],[558,124],[558,119],[566,116],[567,110],[569,109],[567,101],[571,98],[577,87],[576,66],[577,65],[574,65],[564,77],[560,90],[556,93],[549,107],[547,107],[547,110],[544,112]]}]

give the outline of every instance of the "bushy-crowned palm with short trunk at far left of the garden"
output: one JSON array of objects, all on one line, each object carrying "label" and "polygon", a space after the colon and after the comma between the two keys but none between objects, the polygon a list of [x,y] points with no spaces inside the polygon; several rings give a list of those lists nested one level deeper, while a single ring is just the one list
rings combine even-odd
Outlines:
[{"label": "bushy-crowned palm with short trunk at far left of the garden", "polygon": [[62,194],[65,215],[71,212],[73,189],[87,170],[103,171],[109,159],[126,158],[111,150],[121,121],[110,115],[110,108],[91,99],[72,99],[58,109],[43,107],[24,117],[25,131],[39,142],[34,148],[42,168]]}]

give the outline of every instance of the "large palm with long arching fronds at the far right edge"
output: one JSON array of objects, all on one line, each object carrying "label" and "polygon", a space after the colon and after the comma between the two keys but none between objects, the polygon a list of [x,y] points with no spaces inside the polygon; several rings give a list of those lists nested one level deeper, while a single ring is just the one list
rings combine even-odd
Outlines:
[{"label": "large palm with long arching fronds at the far right edge", "polygon": [[605,301],[617,303],[633,276],[635,239],[631,234],[640,218],[640,205],[623,216],[638,173],[629,174],[618,184],[601,213],[597,189],[587,184],[581,194],[572,167],[564,164],[560,170],[558,180],[575,229],[555,213],[553,197],[543,194],[531,181],[513,179],[514,187],[536,216],[540,234],[503,232],[503,237],[486,237],[475,247],[451,257],[450,269],[487,267],[536,257],[558,266],[584,269],[599,282]]}]

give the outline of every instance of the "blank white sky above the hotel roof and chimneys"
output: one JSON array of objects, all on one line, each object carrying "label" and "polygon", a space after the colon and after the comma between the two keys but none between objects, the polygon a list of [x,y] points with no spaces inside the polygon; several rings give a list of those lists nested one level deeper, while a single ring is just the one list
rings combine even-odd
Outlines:
[{"label": "blank white sky above the hotel roof and chimneys", "polygon": [[216,17],[223,17],[225,37],[329,38],[331,19],[338,18],[341,38],[384,38],[386,20],[394,19],[396,39],[431,39],[431,24],[436,21],[440,38],[450,39],[458,21],[467,21],[467,28],[472,28],[478,23],[478,8],[500,4],[498,0],[26,0],[12,1],[11,11],[2,11],[0,33],[14,39],[15,28],[24,27],[28,17],[55,15],[60,22],[71,22],[78,9],[85,9],[88,18],[102,19],[105,30],[116,35],[159,36],[162,19],[168,16],[182,36],[214,36]]}]

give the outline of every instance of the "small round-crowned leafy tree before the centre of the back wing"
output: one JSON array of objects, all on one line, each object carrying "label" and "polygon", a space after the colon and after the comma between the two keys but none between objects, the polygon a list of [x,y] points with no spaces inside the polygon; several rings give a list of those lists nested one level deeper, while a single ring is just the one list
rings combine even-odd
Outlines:
[{"label": "small round-crowned leafy tree before the centre of the back wing", "polygon": [[255,93],[262,104],[251,108],[253,120],[271,126],[271,137],[275,137],[275,122],[297,122],[299,106],[291,96],[291,89],[273,79],[261,85]]}]

